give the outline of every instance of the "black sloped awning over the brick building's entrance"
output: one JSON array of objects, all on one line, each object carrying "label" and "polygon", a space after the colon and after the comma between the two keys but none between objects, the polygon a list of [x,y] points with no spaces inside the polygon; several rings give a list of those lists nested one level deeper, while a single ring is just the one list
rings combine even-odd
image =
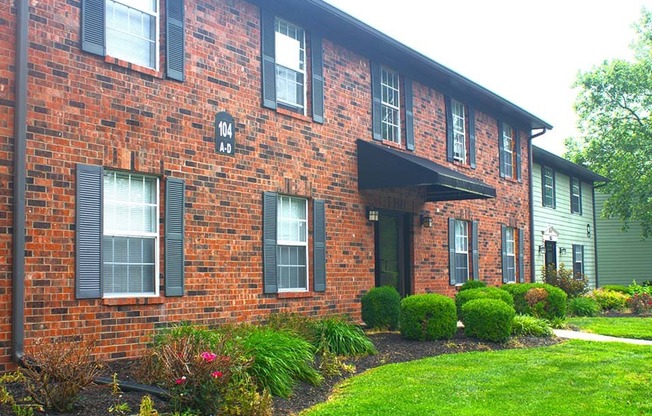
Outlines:
[{"label": "black sloped awning over the brick building's entrance", "polygon": [[358,189],[425,189],[426,202],[495,198],[496,189],[410,153],[357,140]]}]

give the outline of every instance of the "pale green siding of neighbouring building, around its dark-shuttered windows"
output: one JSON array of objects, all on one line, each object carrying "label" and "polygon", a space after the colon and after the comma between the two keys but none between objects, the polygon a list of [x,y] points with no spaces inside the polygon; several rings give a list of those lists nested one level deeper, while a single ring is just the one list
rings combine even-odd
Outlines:
[{"label": "pale green siding of neighbouring building, around its dark-shuttered windows", "polygon": [[[596,286],[595,271],[595,245],[593,238],[593,198],[592,184],[581,182],[582,186],[582,215],[571,214],[570,207],[570,177],[561,171],[555,170],[555,208],[544,207],[542,204],[541,190],[541,165],[533,164],[533,201],[534,206],[534,266],[535,277],[541,281],[541,269],[544,263],[544,254],[539,253],[539,246],[543,245],[542,232],[553,226],[559,233],[557,240],[557,265],[564,264],[567,269],[573,268],[573,244],[584,246],[584,274],[589,279],[589,286]],[[586,236],[586,226],[591,226],[591,237]],[[566,249],[566,254],[560,255],[559,248]],[[600,273],[602,271],[600,270]]]}]

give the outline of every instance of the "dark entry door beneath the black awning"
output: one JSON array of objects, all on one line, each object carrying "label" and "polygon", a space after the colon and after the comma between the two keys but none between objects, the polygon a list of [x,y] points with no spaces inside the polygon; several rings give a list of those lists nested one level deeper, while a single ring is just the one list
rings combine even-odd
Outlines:
[{"label": "dark entry door beneath the black awning", "polygon": [[376,223],[376,286],[393,286],[410,294],[409,232],[403,213],[380,213]]}]

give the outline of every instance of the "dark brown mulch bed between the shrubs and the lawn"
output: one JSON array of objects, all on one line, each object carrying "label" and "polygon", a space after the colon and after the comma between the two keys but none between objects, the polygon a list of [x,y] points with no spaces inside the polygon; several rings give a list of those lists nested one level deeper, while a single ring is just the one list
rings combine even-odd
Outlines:
[{"label": "dark brown mulch bed between the shrubs and the lawn", "polygon": [[[480,342],[466,338],[463,330],[460,330],[452,340],[446,341],[406,341],[398,333],[375,333],[370,334],[378,354],[347,360],[348,364],[355,366],[355,373],[359,374],[367,369],[384,364],[400,363],[405,361],[417,360],[425,357],[432,357],[441,354],[461,353],[468,351],[491,351],[512,348],[528,348],[554,345],[560,342],[558,338],[536,338],[536,337],[519,337],[510,340],[505,344],[494,344]],[[111,377],[114,373],[118,374],[118,379],[133,381],[134,361],[122,360],[110,362],[103,371],[105,377]],[[349,377],[352,374],[347,374]],[[293,395],[289,399],[274,398],[274,416],[293,415],[303,409],[309,408],[317,403],[326,401],[333,391],[335,384],[343,380],[343,377],[334,377],[326,379],[320,386],[312,386],[306,383],[298,384]],[[21,397],[24,394],[18,386],[10,385],[9,391],[15,397]],[[116,403],[128,403],[132,413],[138,413],[141,398],[145,395],[142,392],[123,391],[120,397],[116,397],[111,392],[111,387],[107,385],[91,385],[82,393],[77,407],[72,413],[36,413],[39,415],[51,416],[105,416],[112,415],[109,413],[109,407]],[[156,409],[163,413],[171,411],[168,403],[156,396],[154,399]],[[11,415],[9,408],[0,406],[0,414]]]}]

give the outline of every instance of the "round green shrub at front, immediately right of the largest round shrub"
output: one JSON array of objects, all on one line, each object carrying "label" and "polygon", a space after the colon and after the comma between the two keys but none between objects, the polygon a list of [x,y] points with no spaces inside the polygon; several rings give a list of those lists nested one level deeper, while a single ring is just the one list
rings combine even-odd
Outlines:
[{"label": "round green shrub at front, immediately right of the largest round shrub", "polygon": [[467,337],[505,342],[512,333],[514,308],[498,299],[474,299],[462,306],[462,322]]}]

